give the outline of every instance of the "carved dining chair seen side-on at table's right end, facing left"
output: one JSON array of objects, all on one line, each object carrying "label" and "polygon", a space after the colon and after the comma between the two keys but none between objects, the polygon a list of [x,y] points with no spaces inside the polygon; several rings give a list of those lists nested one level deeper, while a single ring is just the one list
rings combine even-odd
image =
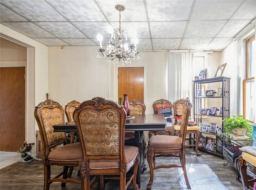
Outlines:
[{"label": "carved dining chair seen side-on at table's right end, facing left", "polygon": [[[190,184],[188,182],[188,176],[186,172],[186,161],[185,161],[185,141],[186,141],[186,126],[188,124],[188,117],[190,115],[191,104],[189,99],[182,108],[182,121],[180,125],[179,136],[170,135],[154,135],[151,136],[148,141],[148,152],[147,160],[150,168],[150,180],[147,185],[147,190],[151,190],[153,180],[154,180],[154,170],[159,168],[182,168],[187,188],[190,189]],[[173,160],[169,160],[169,165],[162,164],[156,166],[156,157],[179,157],[180,164],[173,163]]]}]

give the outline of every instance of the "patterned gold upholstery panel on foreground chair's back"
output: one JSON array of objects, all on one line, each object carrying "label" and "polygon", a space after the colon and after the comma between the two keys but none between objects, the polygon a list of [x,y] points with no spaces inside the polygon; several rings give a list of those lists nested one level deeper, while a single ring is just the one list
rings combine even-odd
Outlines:
[{"label": "patterned gold upholstery panel on foreground chair's back", "polygon": [[84,110],[79,116],[88,155],[119,154],[120,114],[115,110]]}]

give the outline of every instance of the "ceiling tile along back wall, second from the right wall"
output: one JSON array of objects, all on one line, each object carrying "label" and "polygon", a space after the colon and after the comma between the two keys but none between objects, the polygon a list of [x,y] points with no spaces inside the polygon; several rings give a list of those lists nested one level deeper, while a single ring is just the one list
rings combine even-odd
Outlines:
[{"label": "ceiling tile along back wall, second from the right wall", "polygon": [[181,50],[208,50],[206,46],[212,38],[184,38],[181,42]]}]

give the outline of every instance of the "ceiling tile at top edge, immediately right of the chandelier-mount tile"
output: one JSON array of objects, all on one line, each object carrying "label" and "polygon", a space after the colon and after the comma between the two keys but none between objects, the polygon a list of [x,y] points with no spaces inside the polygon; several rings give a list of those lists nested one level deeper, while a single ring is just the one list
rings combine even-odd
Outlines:
[{"label": "ceiling tile at top edge, immediately right of the chandelier-mount tile", "polygon": [[188,20],[193,1],[191,0],[147,0],[150,21]]}]

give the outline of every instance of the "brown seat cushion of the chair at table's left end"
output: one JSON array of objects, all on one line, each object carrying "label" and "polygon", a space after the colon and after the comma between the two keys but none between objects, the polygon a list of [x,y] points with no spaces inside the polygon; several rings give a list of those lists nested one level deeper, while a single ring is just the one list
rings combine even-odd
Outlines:
[{"label": "brown seat cushion of the chair at table's left end", "polygon": [[55,150],[52,150],[48,155],[48,160],[54,162],[72,162],[82,160],[82,150],[80,143],[66,144],[56,148]]}]

